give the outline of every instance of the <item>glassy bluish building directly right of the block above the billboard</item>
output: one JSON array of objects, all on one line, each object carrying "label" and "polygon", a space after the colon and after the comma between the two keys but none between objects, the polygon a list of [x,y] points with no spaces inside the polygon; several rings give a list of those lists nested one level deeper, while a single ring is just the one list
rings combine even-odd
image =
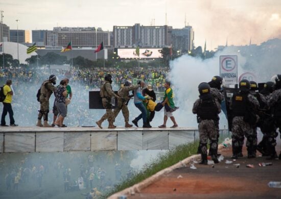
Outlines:
[{"label": "glassy bluish building directly right of the block above the billboard", "polygon": [[172,30],[173,49],[187,53],[194,48],[194,30],[192,26]]}]

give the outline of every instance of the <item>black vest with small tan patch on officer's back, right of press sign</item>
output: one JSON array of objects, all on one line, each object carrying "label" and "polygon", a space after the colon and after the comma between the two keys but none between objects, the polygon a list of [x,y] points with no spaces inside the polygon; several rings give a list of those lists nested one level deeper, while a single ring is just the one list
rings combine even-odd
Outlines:
[{"label": "black vest with small tan patch on officer's back, right of press sign", "polygon": [[237,93],[232,96],[232,113],[235,116],[245,116],[249,93]]}]

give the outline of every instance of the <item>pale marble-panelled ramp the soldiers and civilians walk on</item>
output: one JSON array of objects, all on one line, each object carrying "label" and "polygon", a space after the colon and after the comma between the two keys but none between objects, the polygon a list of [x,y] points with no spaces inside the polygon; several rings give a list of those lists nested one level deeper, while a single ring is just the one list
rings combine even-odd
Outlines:
[{"label": "pale marble-panelled ramp the soldiers and civilians walk on", "polygon": [[191,128],[5,127],[0,153],[171,150],[196,138]]}]

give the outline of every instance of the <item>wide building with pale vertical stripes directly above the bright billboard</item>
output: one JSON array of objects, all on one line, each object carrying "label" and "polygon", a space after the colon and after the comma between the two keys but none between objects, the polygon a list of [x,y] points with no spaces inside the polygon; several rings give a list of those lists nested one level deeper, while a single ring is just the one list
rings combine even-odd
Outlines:
[{"label": "wide building with pale vertical stripes directly above the bright billboard", "polygon": [[169,26],[113,26],[114,47],[166,47],[172,43]]}]

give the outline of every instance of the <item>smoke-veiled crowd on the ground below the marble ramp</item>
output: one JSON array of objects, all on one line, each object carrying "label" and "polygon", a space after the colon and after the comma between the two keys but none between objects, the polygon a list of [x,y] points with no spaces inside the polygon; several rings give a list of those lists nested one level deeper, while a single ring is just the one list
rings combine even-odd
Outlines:
[{"label": "smoke-veiled crowd on the ground below the marble ramp", "polygon": [[99,196],[131,177],[133,157],[131,152],[26,154],[10,162],[7,156],[0,165],[5,180],[2,191],[17,193],[18,190],[48,190],[54,186],[61,193],[78,191]]}]

